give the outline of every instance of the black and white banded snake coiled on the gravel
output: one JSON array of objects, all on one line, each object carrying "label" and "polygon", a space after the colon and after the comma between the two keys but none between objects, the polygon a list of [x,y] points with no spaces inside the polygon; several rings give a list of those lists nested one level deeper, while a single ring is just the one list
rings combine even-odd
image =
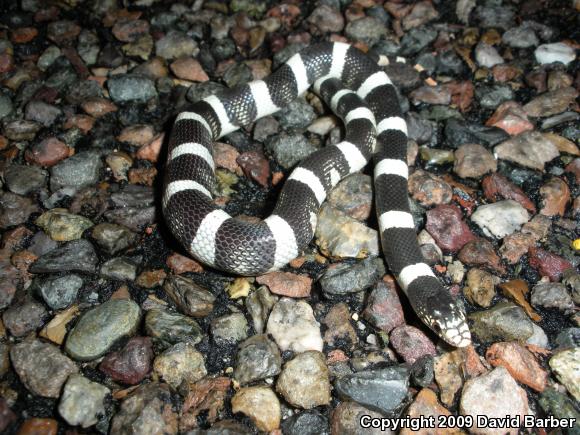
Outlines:
[{"label": "black and white banded snake coiled on the gravel", "polygon": [[[311,87],[345,124],[344,139],[294,168],[270,216],[258,221],[230,216],[213,201],[213,143],[287,107]],[[391,272],[431,330],[452,346],[468,346],[463,308],[425,263],[417,242],[407,194],[407,125],[397,90],[380,62],[351,44],[310,45],[265,79],[182,110],[169,136],[163,216],[177,241],[201,263],[241,276],[269,273],[301,255],[330,190],[371,159],[382,252]]]}]

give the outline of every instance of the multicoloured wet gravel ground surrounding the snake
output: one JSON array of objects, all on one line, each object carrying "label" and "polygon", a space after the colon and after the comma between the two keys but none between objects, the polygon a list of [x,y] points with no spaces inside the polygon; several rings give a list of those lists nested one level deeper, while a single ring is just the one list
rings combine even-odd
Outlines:
[{"label": "multicoloured wet gravel ground surrounding the snake", "polygon": [[[0,432],[408,434],[402,422],[433,416],[455,427],[422,433],[499,435],[518,429],[477,416],[531,416],[539,433],[536,418],[580,420],[578,11],[1,2]],[[406,59],[385,70],[409,126],[419,241],[473,346],[439,342],[389,274],[371,168],[335,188],[308,250],[277,273],[198,264],[161,219],[180,108],[321,40]],[[267,216],[291,168],[341,134],[307,93],[228,135],[216,201]],[[363,429],[364,415],[398,426]]]}]

